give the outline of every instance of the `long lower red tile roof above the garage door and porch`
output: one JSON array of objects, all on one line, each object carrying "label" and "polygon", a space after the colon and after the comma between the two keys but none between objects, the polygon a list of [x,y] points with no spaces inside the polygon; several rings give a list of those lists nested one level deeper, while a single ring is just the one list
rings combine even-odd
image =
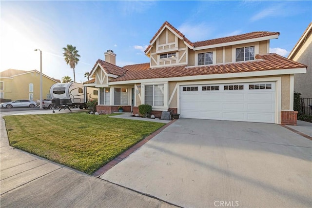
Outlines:
[{"label": "long lower red tile roof above the garage door and porch", "polygon": [[148,63],[128,65],[125,66],[128,71],[123,76],[113,79],[110,82],[306,67],[304,64],[294,62],[277,54],[256,55],[255,58],[255,61],[249,62],[235,62],[192,67],[182,65],[149,68]]}]

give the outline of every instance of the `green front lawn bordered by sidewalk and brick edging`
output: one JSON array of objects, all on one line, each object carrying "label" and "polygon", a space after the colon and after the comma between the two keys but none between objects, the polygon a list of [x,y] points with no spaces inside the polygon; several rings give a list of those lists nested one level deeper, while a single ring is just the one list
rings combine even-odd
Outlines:
[{"label": "green front lawn bordered by sidewalk and brick edging", "polygon": [[11,146],[92,174],[164,125],[111,115],[79,112],[4,119]]}]

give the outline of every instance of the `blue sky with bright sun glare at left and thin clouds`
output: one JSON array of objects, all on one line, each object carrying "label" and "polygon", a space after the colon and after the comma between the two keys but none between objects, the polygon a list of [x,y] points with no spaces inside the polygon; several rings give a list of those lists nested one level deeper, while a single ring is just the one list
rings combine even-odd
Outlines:
[{"label": "blue sky with bright sun glare at left and thin clouds", "polygon": [[254,31],[280,32],[270,52],[287,57],[312,21],[312,1],[0,1],[0,71],[40,70],[56,79],[73,70],[63,47],[81,56],[76,82],[85,82],[104,52],[124,66],[149,62],[144,50],[164,21],[192,42]]}]

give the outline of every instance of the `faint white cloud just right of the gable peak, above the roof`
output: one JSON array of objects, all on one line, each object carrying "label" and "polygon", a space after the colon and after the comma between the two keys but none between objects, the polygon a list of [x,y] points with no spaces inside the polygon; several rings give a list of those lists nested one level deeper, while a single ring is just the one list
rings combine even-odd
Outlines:
[{"label": "faint white cloud just right of the gable peak, above the roof", "polygon": [[177,29],[192,42],[208,40],[209,36],[214,31],[214,29],[206,23],[192,24],[190,22],[183,23]]}]

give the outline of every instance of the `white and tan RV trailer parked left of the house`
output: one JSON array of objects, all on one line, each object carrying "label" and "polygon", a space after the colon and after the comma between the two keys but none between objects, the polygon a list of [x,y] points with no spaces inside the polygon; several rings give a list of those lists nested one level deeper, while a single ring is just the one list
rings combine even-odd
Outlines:
[{"label": "white and tan RV trailer parked left of the house", "polygon": [[82,83],[55,83],[50,87],[50,95],[52,99],[59,98],[60,105],[84,106],[88,101],[98,99],[98,89]]}]

